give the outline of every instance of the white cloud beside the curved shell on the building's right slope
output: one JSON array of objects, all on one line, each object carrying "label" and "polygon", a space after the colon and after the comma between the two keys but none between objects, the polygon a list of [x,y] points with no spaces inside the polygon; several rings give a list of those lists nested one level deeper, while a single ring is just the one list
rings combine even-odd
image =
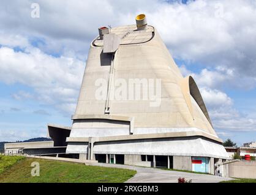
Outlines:
[{"label": "white cloud beside the curved shell on the building's right slope", "polygon": [[[239,112],[234,107],[234,101],[227,93],[220,90],[228,82],[235,80],[232,69],[217,66],[214,71],[202,69],[200,73],[195,74],[189,71],[186,66],[180,67],[183,76],[193,76],[200,87],[201,95],[208,108],[209,116],[213,122],[214,128],[219,135],[233,135],[231,132],[256,131],[256,118],[254,112],[250,115]],[[241,80],[239,80],[241,82]],[[233,85],[237,85],[233,83]],[[243,86],[247,88],[247,86]],[[229,134],[224,133],[228,130]]]}]

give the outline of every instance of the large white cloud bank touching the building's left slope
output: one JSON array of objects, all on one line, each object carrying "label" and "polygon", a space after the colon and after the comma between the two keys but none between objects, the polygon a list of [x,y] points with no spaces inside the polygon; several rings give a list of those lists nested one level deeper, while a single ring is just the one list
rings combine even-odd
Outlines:
[{"label": "large white cloud bank touching the building's left slope", "polygon": [[[7,84],[22,83],[36,94],[18,91],[15,99],[34,98],[50,105],[70,107],[78,98],[85,63],[67,57],[52,57],[36,48],[15,52],[0,48],[0,80]],[[67,111],[67,109],[65,109]],[[71,115],[74,110],[68,109]]]}]

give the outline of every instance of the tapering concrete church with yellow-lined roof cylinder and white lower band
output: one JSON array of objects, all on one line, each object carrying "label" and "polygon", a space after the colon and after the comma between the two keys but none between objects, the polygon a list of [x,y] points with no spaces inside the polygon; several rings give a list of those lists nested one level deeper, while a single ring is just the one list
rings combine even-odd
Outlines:
[{"label": "tapering concrete church with yellow-lined roof cylinder and white lower band", "polygon": [[146,16],[136,23],[99,28],[72,127],[48,126],[54,147],[84,160],[214,174],[229,157],[197,84],[181,75]]}]

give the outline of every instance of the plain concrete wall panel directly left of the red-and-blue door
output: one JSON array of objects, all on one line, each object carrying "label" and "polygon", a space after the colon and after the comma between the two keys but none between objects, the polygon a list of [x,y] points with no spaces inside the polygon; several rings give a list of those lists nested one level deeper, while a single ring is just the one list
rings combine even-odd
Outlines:
[{"label": "plain concrete wall panel directly left of the red-and-blue door", "polygon": [[192,171],[191,157],[173,156],[173,169]]}]

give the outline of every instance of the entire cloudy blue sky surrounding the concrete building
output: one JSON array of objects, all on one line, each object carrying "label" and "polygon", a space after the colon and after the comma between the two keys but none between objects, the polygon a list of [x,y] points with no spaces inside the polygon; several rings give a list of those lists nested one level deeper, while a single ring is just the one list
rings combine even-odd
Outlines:
[{"label": "entire cloudy blue sky surrounding the concrete building", "polygon": [[255,1],[37,2],[39,18],[32,1],[1,2],[0,141],[70,126],[97,27],[134,24],[138,13],[195,78],[219,137],[256,141]]}]

